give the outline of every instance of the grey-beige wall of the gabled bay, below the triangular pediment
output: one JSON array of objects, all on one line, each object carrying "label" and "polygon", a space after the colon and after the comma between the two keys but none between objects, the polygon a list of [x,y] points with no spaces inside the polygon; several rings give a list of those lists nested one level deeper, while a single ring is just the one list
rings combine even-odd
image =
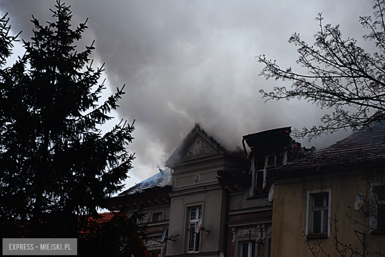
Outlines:
[{"label": "grey-beige wall of the gabled bay, below the triangular pediment", "polygon": [[168,243],[167,256],[187,253],[189,210],[197,206],[202,207],[202,226],[210,231],[201,232],[199,252],[224,251],[228,192],[219,185],[217,171],[239,166],[239,162],[215,155],[174,168],[168,234],[180,236]]}]

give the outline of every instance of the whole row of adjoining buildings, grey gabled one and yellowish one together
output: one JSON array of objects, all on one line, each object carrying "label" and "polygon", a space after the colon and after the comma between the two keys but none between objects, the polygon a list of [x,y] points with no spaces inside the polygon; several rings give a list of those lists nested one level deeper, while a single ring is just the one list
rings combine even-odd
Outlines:
[{"label": "whole row of adjoining buildings, grey gabled one and yellowish one together", "polygon": [[290,132],[245,135],[243,149],[229,151],[195,125],[166,170],[106,207],[144,208],[152,257],[334,256],[335,240],[345,253],[384,255],[384,126],[318,152]]}]

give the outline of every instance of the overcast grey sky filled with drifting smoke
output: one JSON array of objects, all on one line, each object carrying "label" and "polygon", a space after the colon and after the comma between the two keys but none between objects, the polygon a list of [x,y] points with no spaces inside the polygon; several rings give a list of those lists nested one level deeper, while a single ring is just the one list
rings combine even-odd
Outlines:
[{"label": "overcast grey sky filled with drifting smoke", "polygon": [[[126,188],[158,172],[195,123],[228,149],[241,146],[242,135],[291,126],[320,125],[327,110],[302,100],[264,102],[259,89],[290,86],[259,77],[263,65],[255,58],[266,54],[282,68],[301,70],[296,46],[288,39],[300,33],[309,44],[319,30],[315,20],[340,24],[343,37],[359,45],[367,33],[359,16],[373,16],[371,0],[82,0],[72,6],[73,25],[88,17],[89,28],[77,43],[84,50],[95,40],[91,56],[106,63],[108,92],[126,84],[120,108],[114,113],[132,123],[134,168]],[[9,13],[13,33],[32,36],[33,14],[40,23],[52,21],[48,0],[1,0],[0,12]],[[367,48],[368,48],[367,47]],[[21,55],[20,47],[16,54]],[[306,71],[305,71],[306,73]],[[107,125],[111,126],[111,124]],[[299,141],[322,148],[348,133]]]}]

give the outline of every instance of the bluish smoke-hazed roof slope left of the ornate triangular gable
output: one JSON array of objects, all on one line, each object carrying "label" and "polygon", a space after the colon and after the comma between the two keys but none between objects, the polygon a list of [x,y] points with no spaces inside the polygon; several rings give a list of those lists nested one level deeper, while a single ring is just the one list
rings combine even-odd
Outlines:
[{"label": "bluish smoke-hazed roof slope left of the ornate triangular gable", "polygon": [[167,168],[165,170],[162,170],[159,168],[159,166],[158,166],[158,169],[159,169],[159,173],[156,173],[154,176],[149,177],[146,180],[143,180],[142,182],[135,184],[129,189],[121,192],[119,195],[128,195],[128,194],[133,194],[137,192],[142,192],[149,188],[165,187],[167,185],[172,185],[171,169]]}]

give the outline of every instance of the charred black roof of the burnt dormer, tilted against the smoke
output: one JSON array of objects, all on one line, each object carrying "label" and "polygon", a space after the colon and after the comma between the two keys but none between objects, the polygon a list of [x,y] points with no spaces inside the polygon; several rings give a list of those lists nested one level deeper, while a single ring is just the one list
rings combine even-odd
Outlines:
[{"label": "charred black roof of the burnt dormer, tilted against the smoke", "polygon": [[293,140],[290,137],[291,127],[270,129],[254,134],[244,135],[243,139],[255,154],[274,152],[289,146]]}]

